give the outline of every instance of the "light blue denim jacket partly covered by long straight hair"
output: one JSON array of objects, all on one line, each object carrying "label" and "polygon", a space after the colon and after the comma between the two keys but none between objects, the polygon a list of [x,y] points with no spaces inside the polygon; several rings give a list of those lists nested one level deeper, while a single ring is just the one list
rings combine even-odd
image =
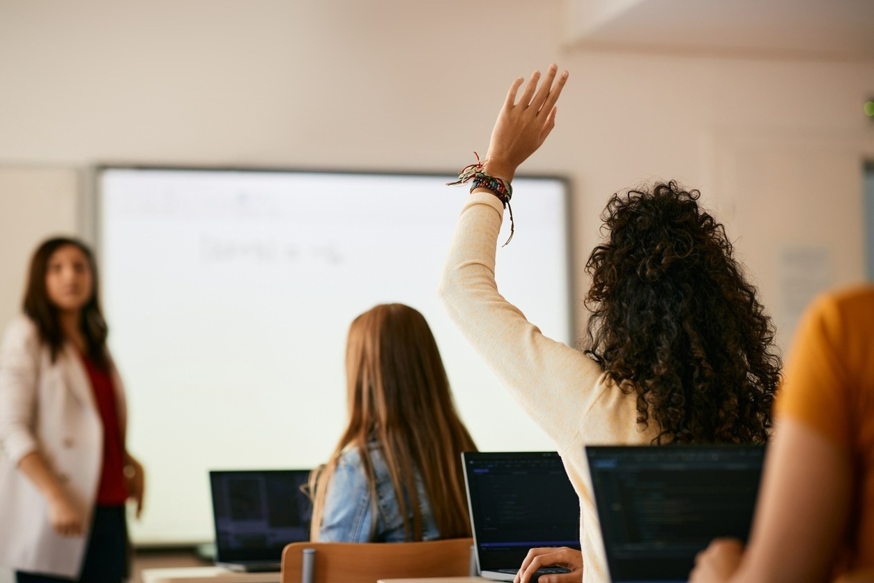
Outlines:
[{"label": "light blue denim jacket partly covered by long straight hair", "polygon": [[[367,488],[367,476],[361,464],[357,448],[350,448],[340,457],[336,473],[330,482],[325,498],[322,527],[319,541],[348,543],[400,543],[404,542],[404,519],[400,516],[398,498],[392,487],[388,467],[385,465],[377,444],[369,444],[373,473],[376,476],[377,524],[371,538],[371,493]],[[416,489],[419,493],[419,509],[422,517],[422,540],[440,538],[437,524],[428,503],[425,485],[416,472]],[[413,527],[413,513],[408,515]],[[412,537],[412,533],[411,533]]]}]

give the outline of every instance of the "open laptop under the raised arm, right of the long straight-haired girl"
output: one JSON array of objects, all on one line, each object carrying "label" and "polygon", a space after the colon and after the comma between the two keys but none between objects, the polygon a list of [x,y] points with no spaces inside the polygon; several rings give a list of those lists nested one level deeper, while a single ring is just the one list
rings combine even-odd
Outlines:
[{"label": "open laptop under the raised arm, right of the long straight-haired girl", "polygon": [[[579,497],[557,453],[465,452],[461,460],[482,577],[513,580],[536,546],[579,549]],[[538,577],[545,573],[569,572],[547,567]]]}]

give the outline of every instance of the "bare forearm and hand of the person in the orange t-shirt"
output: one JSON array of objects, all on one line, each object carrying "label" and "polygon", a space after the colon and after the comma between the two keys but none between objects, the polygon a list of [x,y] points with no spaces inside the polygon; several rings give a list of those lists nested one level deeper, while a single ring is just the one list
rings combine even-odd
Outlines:
[{"label": "bare forearm and hand of the person in the orange t-shirt", "polygon": [[[849,456],[799,421],[778,421],[746,552],[725,539],[697,558],[690,583],[806,583],[829,578],[850,514]],[[737,570],[734,570],[734,567]]]}]

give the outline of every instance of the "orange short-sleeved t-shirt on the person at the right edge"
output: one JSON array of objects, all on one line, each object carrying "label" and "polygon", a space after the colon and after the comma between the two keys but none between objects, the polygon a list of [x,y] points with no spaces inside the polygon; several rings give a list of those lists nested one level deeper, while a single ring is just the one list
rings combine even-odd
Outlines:
[{"label": "orange short-sleeved t-shirt on the person at the right edge", "polygon": [[874,567],[874,287],[823,295],[801,320],[776,417],[804,423],[850,455],[850,568]]}]

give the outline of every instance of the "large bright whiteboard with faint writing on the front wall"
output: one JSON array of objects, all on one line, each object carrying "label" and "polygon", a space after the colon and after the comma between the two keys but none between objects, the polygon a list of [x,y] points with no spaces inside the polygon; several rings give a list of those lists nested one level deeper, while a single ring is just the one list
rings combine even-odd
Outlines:
[{"label": "large bright whiteboard with faint writing on the front wall", "polygon": [[[554,449],[436,296],[467,188],[449,177],[106,168],[97,225],[128,448],[146,467],[138,545],[212,540],[209,469],[313,468],[346,416],[352,319],[402,302],[427,318],[481,450]],[[505,297],[572,344],[568,192],[514,181]],[[504,225],[501,242],[509,234]]]}]

